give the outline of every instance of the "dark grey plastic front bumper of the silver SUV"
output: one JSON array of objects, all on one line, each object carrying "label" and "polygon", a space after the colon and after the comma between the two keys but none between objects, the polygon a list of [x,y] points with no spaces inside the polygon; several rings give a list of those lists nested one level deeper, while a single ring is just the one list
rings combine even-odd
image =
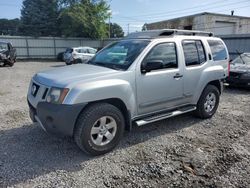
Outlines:
[{"label": "dark grey plastic front bumper of the silver SUV", "polygon": [[65,105],[39,102],[37,109],[30,103],[30,118],[46,131],[61,136],[73,136],[78,115],[87,104]]}]

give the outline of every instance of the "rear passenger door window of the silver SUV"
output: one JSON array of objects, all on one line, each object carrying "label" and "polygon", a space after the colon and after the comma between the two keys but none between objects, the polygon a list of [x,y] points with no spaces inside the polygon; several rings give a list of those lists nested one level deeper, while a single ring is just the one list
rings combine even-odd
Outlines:
[{"label": "rear passenger door window of the silver SUV", "polygon": [[206,53],[200,40],[184,40],[182,47],[186,66],[200,65],[206,62]]}]

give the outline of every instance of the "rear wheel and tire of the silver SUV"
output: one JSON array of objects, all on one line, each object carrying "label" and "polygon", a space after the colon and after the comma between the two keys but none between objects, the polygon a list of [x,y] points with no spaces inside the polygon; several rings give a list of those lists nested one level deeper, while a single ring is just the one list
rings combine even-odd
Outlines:
[{"label": "rear wheel and tire of the silver SUV", "polygon": [[211,118],[217,111],[219,102],[220,92],[218,88],[213,85],[207,85],[197,103],[195,115],[202,119]]}]

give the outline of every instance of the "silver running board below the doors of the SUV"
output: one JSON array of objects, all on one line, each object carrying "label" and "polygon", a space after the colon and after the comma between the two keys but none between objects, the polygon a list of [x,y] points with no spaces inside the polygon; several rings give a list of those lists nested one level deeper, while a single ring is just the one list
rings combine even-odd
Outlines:
[{"label": "silver running board below the doors of the SUV", "polygon": [[138,126],[142,126],[142,125],[146,125],[146,124],[153,123],[153,122],[156,122],[156,121],[160,121],[160,120],[163,120],[163,119],[167,119],[167,118],[170,118],[170,117],[174,117],[174,116],[178,116],[178,115],[185,114],[185,113],[188,113],[188,112],[192,112],[194,110],[196,110],[195,106],[184,107],[184,108],[180,108],[180,109],[175,110],[175,111],[170,111],[170,112],[163,113],[163,114],[157,114],[157,115],[154,115],[154,116],[147,117],[145,119],[137,120],[137,121],[135,121],[135,123]]}]

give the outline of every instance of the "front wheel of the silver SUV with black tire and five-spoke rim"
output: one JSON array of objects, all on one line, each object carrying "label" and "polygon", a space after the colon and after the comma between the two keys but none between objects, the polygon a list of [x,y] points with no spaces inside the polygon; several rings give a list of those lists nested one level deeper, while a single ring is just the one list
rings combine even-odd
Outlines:
[{"label": "front wheel of the silver SUV with black tire and five-spoke rim", "polygon": [[[113,126],[113,128],[103,131],[101,125],[104,124],[109,127]],[[79,115],[74,131],[74,140],[84,152],[93,156],[103,155],[118,145],[124,129],[124,117],[118,108],[107,103],[93,104]],[[106,135],[109,135],[109,139]]]}]

